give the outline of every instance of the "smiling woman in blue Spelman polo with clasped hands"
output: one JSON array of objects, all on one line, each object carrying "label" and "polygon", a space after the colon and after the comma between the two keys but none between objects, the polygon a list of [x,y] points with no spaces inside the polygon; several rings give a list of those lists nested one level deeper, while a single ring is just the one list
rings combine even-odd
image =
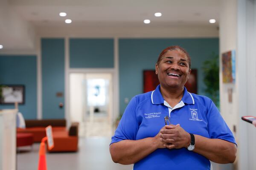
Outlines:
[{"label": "smiling woman in blue Spelman polo with clasped hands", "polygon": [[134,164],[134,170],[206,170],[209,160],[235,161],[234,136],[212,100],[184,87],[190,66],[179,46],[161,52],[155,66],[160,85],[135,96],[125,109],[110,145],[114,162]]}]

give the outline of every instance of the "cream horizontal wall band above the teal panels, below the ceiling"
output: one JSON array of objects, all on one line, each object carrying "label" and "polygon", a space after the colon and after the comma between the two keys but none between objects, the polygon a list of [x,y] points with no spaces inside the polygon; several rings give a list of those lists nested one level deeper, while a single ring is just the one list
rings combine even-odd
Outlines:
[{"label": "cream horizontal wall band above the teal panels, below the ceiling", "polygon": [[72,23],[72,26],[38,25],[35,29],[41,37],[218,37],[218,28],[211,25],[166,26],[163,28],[160,26],[130,26],[127,23],[110,23],[108,25]]}]

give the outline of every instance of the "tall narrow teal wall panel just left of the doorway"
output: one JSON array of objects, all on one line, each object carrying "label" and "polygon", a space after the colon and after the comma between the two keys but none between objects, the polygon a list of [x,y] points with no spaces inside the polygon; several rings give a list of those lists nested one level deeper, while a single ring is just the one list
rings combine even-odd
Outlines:
[{"label": "tall narrow teal wall panel just left of the doorway", "polygon": [[[64,108],[59,108],[60,102],[64,103],[64,39],[41,39],[42,52],[42,113],[43,119],[63,119]],[[63,93],[57,97],[56,93]]]}]

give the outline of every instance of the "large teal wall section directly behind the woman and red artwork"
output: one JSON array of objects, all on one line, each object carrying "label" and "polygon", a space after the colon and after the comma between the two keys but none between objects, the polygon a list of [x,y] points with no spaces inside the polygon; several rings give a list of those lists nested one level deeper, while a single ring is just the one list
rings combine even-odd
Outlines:
[{"label": "large teal wall section directly behind the woman and red artwork", "polygon": [[191,56],[191,68],[198,69],[198,94],[204,95],[202,63],[218,54],[218,38],[180,39],[119,39],[119,95],[120,113],[131,99],[143,93],[143,70],[154,69],[160,52],[171,45],[179,45]]}]

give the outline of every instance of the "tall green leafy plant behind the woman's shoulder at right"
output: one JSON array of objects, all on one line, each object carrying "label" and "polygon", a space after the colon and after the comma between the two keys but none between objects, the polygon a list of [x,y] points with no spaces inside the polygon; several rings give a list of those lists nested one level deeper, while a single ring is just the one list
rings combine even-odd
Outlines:
[{"label": "tall green leafy plant behind the woman's shoulder at right", "polygon": [[212,59],[203,63],[205,93],[219,108],[219,56],[212,53]]}]

